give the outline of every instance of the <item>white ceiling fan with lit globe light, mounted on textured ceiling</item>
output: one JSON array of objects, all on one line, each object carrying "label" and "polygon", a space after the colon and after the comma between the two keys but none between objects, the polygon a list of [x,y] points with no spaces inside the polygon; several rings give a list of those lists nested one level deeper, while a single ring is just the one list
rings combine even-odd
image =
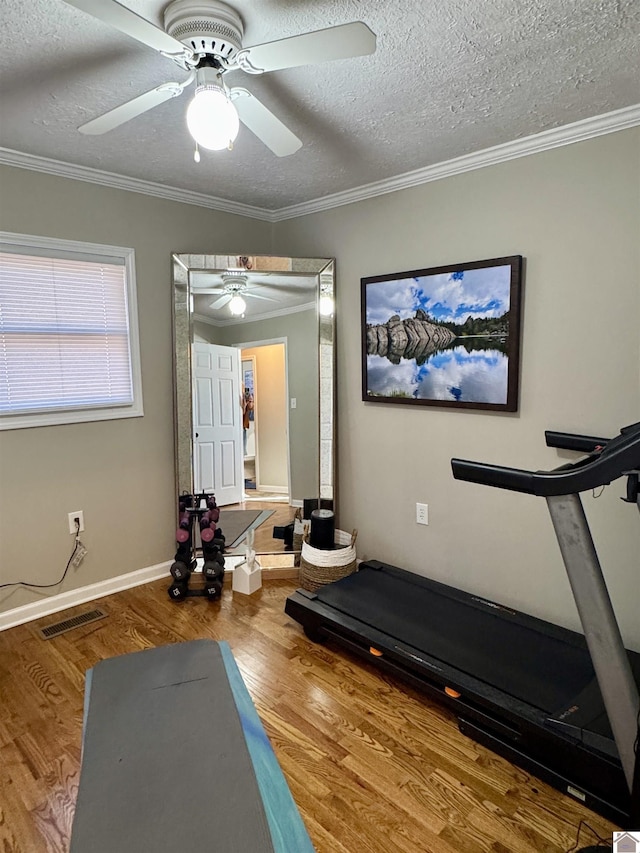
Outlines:
[{"label": "white ceiling fan with lit globe light, mounted on textured ceiling", "polygon": [[187,110],[187,125],[198,146],[231,148],[242,122],[278,157],[295,153],[302,142],[248,89],[228,88],[223,76],[241,70],[262,74],[327,60],[371,54],[376,37],[355,21],[243,47],[243,24],[238,13],[219,0],[173,0],[164,11],[161,30],[116,0],[64,0],[120,32],[157,50],[188,71],[182,82],[162,83],[83,124],[85,134],[102,134],[175,98],[195,82],[196,94]]}]

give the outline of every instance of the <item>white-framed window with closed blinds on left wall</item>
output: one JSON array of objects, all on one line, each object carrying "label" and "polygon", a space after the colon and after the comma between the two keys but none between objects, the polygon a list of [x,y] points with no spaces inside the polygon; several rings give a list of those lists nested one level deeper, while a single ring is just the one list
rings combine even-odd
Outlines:
[{"label": "white-framed window with closed blinds on left wall", "polygon": [[139,415],[133,249],[0,232],[0,429]]}]

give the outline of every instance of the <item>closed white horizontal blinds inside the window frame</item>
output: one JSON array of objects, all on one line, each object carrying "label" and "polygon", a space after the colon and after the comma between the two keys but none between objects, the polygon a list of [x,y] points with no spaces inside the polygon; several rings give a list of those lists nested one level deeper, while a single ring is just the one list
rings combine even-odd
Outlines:
[{"label": "closed white horizontal blinds inside the window frame", "polygon": [[133,403],[125,269],[0,252],[0,415]]}]

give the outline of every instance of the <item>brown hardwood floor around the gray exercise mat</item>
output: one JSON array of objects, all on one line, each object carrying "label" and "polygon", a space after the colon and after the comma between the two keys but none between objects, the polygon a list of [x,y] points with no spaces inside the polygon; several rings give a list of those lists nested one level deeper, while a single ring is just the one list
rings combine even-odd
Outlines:
[{"label": "brown hardwood floor around the gray exercise mat", "polygon": [[[34,628],[87,605],[0,633],[2,853],[68,849],[85,671],[200,637],[229,642],[318,853],[564,853],[581,820],[610,837],[607,821],[464,737],[446,709],[308,641],[284,614],[294,581],[180,604],[166,587],[91,603],[108,617],[56,639]],[[579,841],[595,838],[583,828]]]}]

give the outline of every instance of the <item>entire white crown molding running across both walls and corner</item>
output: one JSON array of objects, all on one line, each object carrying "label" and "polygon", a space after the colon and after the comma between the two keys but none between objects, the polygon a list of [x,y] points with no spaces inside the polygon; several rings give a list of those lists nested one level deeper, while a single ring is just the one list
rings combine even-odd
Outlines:
[{"label": "entire white crown molding running across both walls and corner", "polygon": [[461,175],[474,169],[482,169],[485,166],[495,166],[508,160],[519,157],[527,157],[530,154],[539,154],[552,148],[563,145],[572,145],[574,142],[584,142],[596,136],[604,136],[619,130],[627,130],[640,125],[640,104],[624,107],[620,110],[604,113],[593,118],[567,124],[563,127],[545,130],[542,133],[486,148],[473,154],[466,154],[423,169],[405,172],[393,178],[375,181],[344,192],[333,193],[312,201],[282,207],[278,210],[267,210],[262,207],[254,207],[241,202],[228,199],[216,198],[204,193],[181,190],[176,187],[167,187],[152,181],[142,181],[138,178],[128,178],[113,172],[102,172],[99,169],[91,169],[87,166],[76,166],[61,160],[50,160],[46,157],[37,157],[33,154],[24,154],[9,148],[0,148],[0,165],[16,166],[21,169],[30,169],[35,172],[44,172],[63,178],[72,178],[78,181],[99,184],[114,189],[128,190],[130,192],[142,193],[156,198],[164,198],[169,201],[177,201],[182,204],[194,204],[206,207],[210,210],[219,210],[222,213],[232,213],[238,216],[246,216],[251,219],[260,219],[265,222],[282,222],[285,219],[293,219],[298,216],[307,216],[312,213],[321,213],[335,207],[346,204],[354,204],[358,201],[366,201],[376,196],[397,192],[421,186],[430,181],[439,181],[442,178],[450,178]]}]

